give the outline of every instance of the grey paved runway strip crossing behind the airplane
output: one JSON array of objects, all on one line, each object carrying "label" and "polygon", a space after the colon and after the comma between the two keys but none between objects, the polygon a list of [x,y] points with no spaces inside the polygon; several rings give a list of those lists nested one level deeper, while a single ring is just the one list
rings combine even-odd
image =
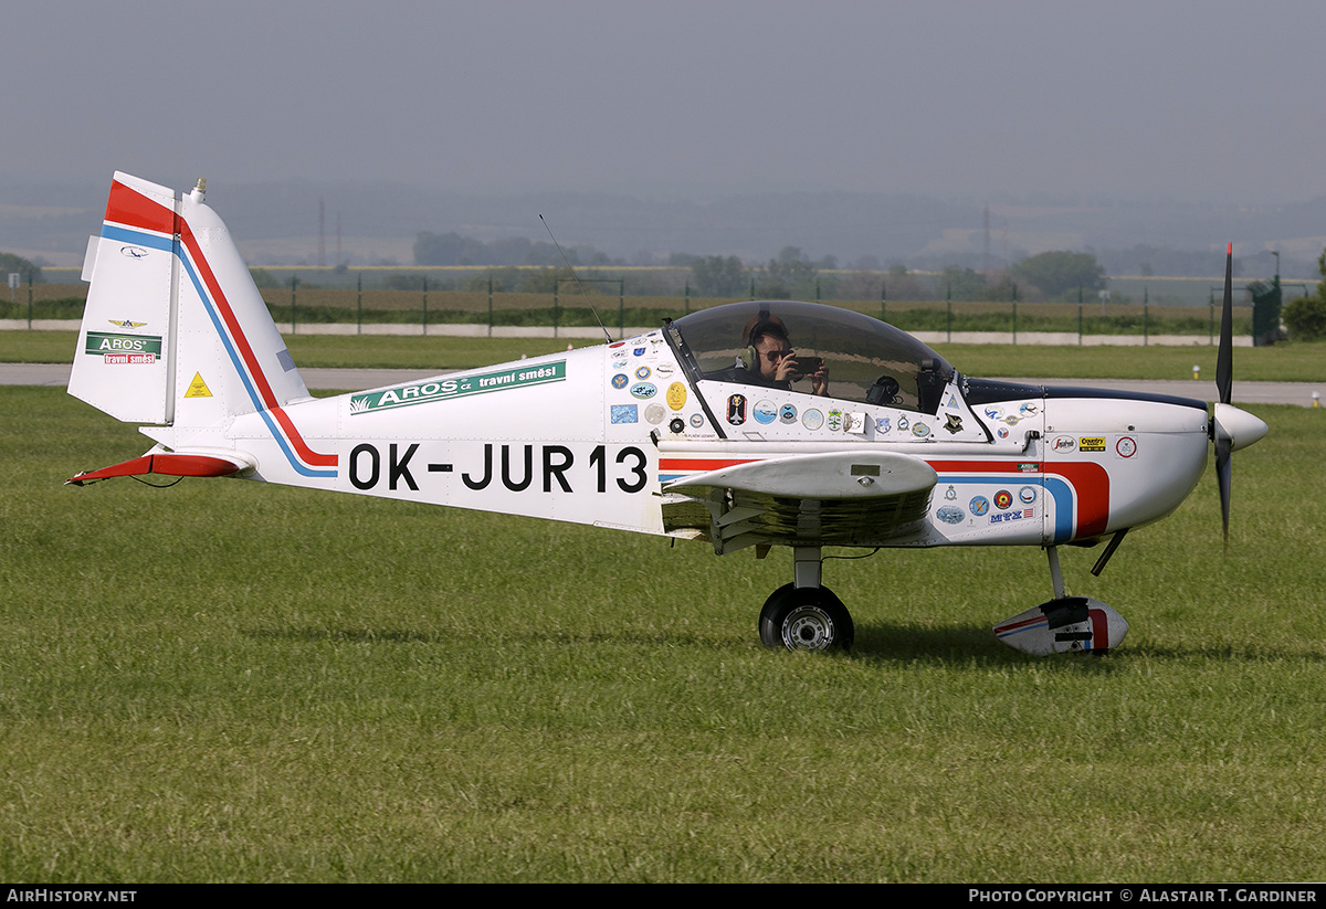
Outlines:
[{"label": "grey paved runway strip crossing behind the airplane", "polygon": [[[412,379],[438,375],[428,370],[300,370],[312,390],[359,390],[394,386]],[[1195,379],[1136,380],[1136,379],[1005,379],[1030,386],[1078,386],[1087,388],[1119,388],[1147,391],[1158,395],[1177,395],[1212,401],[1216,383]],[[69,384],[69,366],[61,363],[0,363],[0,386],[57,386]],[[1311,407],[1313,394],[1326,395],[1326,382],[1235,382],[1233,399],[1240,404],[1298,404]]]}]

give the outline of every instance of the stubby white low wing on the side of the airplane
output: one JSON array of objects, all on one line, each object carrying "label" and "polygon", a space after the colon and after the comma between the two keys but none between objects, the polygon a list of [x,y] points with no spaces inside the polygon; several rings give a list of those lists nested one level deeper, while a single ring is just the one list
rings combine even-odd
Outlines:
[{"label": "stubby white low wing on the side of the airplane", "polygon": [[[667,533],[744,546],[870,546],[924,519],[937,476],[895,452],[797,455],[692,474],[663,486]],[[688,533],[690,531],[690,533]]]}]

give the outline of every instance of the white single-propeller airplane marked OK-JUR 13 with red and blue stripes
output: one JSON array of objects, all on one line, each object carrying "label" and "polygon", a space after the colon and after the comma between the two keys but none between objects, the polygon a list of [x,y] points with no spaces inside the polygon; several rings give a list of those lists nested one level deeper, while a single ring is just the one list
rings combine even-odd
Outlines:
[{"label": "white single-propeller airplane marked OK-JUR 13 with red and blue stripes", "polygon": [[845,648],[825,546],[1040,546],[1054,598],[994,625],[1028,653],[1103,652],[1127,623],[1066,596],[1058,547],[1107,541],[1192,492],[1215,441],[1266,424],[1229,403],[1227,268],[1217,388],[1200,400],[960,375],[850,310],[752,301],[627,341],[314,399],[204,183],[115,174],[69,394],[156,444],[69,482],[240,477],[793,553],[764,644]]}]

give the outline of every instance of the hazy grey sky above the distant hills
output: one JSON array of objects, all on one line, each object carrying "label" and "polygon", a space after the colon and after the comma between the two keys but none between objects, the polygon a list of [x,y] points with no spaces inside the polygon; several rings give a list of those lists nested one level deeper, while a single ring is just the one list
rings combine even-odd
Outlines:
[{"label": "hazy grey sky above the distant hills", "polygon": [[1322,0],[8,0],[0,21],[0,186],[1326,195]]}]

